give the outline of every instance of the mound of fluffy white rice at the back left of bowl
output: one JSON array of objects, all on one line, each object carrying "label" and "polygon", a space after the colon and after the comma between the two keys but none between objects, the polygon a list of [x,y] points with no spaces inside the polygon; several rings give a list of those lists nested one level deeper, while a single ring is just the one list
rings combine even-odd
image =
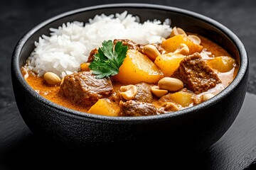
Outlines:
[{"label": "mound of fluffy white rice at the back left of bowl", "polygon": [[42,35],[27,60],[27,69],[41,77],[54,72],[60,78],[77,72],[86,62],[90,51],[101,47],[104,40],[129,39],[140,44],[161,43],[167,38],[171,27],[166,22],[146,21],[139,23],[136,16],[124,11],[115,15],[95,16],[89,23],[74,21],[50,28],[50,37]]}]

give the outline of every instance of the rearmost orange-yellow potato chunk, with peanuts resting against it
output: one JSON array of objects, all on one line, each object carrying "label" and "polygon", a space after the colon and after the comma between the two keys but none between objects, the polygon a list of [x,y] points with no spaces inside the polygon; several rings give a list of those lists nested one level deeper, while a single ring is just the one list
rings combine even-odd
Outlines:
[{"label": "rearmost orange-yellow potato chunk, with peanuts resting against it", "polygon": [[174,37],[168,38],[162,43],[162,47],[167,52],[174,52],[181,43],[184,43],[189,48],[188,55],[192,55],[195,52],[201,52],[203,50],[202,45],[198,45],[191,40],[189,40],[187,37],[183,35],[176,35]]}]

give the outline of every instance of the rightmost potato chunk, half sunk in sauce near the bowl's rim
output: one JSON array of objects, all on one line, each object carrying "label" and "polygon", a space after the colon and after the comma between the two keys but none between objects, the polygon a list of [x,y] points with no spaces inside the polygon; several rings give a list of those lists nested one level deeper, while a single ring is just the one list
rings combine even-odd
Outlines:
[{"label": "rightmost potato chunk, half sunk in sauce near the bowl's rim", "polygon": [[235,67],[235,59],[228,56],[214,57],[213,60],[206,60],[206,64],[218,72],[229,72]]}]

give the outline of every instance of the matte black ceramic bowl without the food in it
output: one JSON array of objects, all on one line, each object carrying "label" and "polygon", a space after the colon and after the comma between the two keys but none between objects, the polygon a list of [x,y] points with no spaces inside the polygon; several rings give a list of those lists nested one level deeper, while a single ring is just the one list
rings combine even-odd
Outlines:
[{"label": "matte black ceramic bowl without the food in it", "polygon": [[[171,26],[199,33],[218,43],[240,62],[234,81],[210,100],[175,113],[144,117],[107,117],[58,106],[33,91],[23,79],[21,66],[33,51],[34,42],[49,28],[71,21],[87,22],[96,14],[129,13],[141,21],[171,19]],[[107,4],[69,11],[44,21],[16,45],[11,62],[16,104],[23,120],[35,135],[74,148],[97,148],[135,144],[192,148],[202,151],[213,145],[230,128],[245,98],[248,59],[244,45],[228,28],[198,13],[153,4]]]}]

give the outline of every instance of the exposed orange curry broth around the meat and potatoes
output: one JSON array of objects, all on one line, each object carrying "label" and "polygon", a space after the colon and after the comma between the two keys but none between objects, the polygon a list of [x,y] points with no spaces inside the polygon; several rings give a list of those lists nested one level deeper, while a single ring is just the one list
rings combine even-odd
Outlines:
[{"label": "exposed orange curry broth around the meat and potatoes", "polygon": [[[215,44],[214,42],[208,40],[207,38],[203,38],[202,36],[198,35],[198,37],[201,38],[201,45],[203,46],[203,56],[204,57],[218,57],[218,56],[230,56],[228,52],[220,47],[219,45]],[[201,53],[203,53],[201,52]],[[238,65],[230,70],[229,72],[220,73],[218,72],[218,77],[222,81],[221,84],[218,84],[213,89],[210,89],[209,91],[203,92],[202,94],[198,94],[197,96],[201,96],[206,93],[211,94],[218,94],[220,91],[225,89],[228,84],[233,81],[236,74],[238,72]],[[57,103],[60,106],[64,106],[66,108],[73,109],[75,111],[81,111],[81,112],[87,112],[90,107],[82,106],[78,103],[73,103],[73,101],[70,101],[69,98],[66,98],[59,92],[60,86],[51,86],[46,84],[46,81],[43,79],[43,77],[36,77],[35,74],[32,72],[28,73],[28,77],[26,77],[26,81],[28,84],[41,96],[48,99],[49,101],[52,101],[53,103]],[[119,91],[119,87],[127,84],[120,84],[118,82],[113,81],[112,82],[114,91]],[[158,98],[154,98],[153,103],[156,103]]]}]

